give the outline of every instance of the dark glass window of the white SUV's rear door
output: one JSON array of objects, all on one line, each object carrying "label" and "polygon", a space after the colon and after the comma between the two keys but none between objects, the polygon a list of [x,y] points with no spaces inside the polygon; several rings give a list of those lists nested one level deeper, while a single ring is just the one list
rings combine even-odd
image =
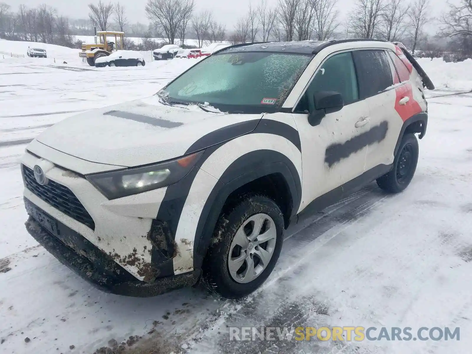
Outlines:
[{"label": "dark glass window of the white SUV's rear door", "polygon": [[354,51],[362,99],[375,96],[393,85],[390,59],[383,50]]}]

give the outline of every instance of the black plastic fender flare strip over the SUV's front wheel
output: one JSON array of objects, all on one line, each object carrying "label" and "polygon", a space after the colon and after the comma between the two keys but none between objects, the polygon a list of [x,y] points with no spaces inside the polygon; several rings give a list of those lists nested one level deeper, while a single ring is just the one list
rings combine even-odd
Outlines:
[{"label": "black plastic fender flare strip over the SUV's front wheel", "polygon": [[290,215],[285,215],[286,226],[288,225],[288,220],[296,215],[300,207],[302,196],[301,176],[295,165],[281,152],[273,150],[248,152],[236,159],[223,172],[202,208],[194,238],[195,269],[202,267],[213,230],[228,196],[247,183],[272,174],[280,174],[283,177],[290,193]]}]

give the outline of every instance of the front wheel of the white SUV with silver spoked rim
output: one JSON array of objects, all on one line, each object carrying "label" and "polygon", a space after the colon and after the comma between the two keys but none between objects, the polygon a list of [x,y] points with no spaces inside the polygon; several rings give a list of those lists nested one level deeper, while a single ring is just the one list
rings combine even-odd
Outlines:
[{"label": "front wheel of the white SUV with silver spoked rim", "polygon": [[[203,261],[202,283],[220,296],[238,299],[260,287],[274,269],[283,244],[284,218],[273,200],[258,194],[241,196],[224,210]],[[261,235],[266,237],[263,243],[257,240]],[[265,262],[260,255],[267,257]],[[251,264],[253,273],[247,271]]]}]

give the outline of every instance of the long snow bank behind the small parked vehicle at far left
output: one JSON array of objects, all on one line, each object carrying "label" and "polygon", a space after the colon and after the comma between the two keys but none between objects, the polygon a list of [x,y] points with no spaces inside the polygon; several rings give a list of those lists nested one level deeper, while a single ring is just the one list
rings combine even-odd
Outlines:
[{"label": "long snow bank behind the small parked vehicle at far left", "polygon": [[48,58],[56,59],[69,59],[69,58],[78,58],[78,49],[71,49],[63,47],[56,44],[46,44],[46,43],[37,43],[37,42],[21,42],[21,41],[7,41],[0,39],[0,59],[11,58],[28,58],[26,51],[28,47],[31,48],[40,48],[47,51]]}]

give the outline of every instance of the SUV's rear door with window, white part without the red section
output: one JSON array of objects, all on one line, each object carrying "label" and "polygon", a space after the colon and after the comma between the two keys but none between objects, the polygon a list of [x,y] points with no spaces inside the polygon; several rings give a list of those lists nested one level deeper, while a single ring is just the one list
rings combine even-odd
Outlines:
[{"label": "SUV's rear door with window, white part without the red section", "polygon": [[398,76],[385,50],[353,52],[359,77],[359,93],[369,106],[370,127],[366,132],[367,170],[390,165],[403,121],[396,112]]}]

